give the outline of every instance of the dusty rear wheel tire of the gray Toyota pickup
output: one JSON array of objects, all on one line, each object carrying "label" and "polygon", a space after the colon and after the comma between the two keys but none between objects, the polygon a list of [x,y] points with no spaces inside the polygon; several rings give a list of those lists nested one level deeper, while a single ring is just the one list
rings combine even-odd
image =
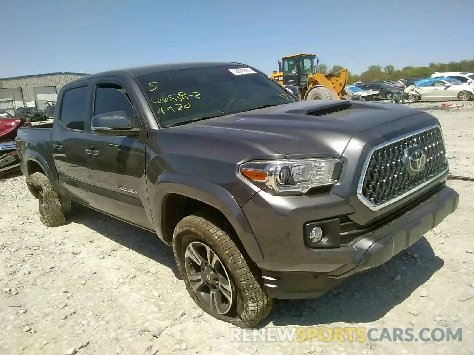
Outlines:
[{"label": "dusty rear wheel tire of the gray Toyota pickup", "polygon": [[[66,223],[63,204],[46,175],[33,173],[26,179],[28,189],[39,201],[40,221],[46,227],[59,227]],[[39,191],[42,191],[42,196]]]}]

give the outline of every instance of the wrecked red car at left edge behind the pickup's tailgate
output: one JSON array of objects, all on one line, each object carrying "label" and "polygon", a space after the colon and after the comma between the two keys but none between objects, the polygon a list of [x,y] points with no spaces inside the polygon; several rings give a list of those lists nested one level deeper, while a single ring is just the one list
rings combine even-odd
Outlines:
[{"label": "wrecked red car at left edge behind the pickup's tailgate", "polygon": [[0,174],[20,165],[15,138],[19,127],[31,125],[25,122],[24,119],[15,118],[7,111],[0,110]]}]

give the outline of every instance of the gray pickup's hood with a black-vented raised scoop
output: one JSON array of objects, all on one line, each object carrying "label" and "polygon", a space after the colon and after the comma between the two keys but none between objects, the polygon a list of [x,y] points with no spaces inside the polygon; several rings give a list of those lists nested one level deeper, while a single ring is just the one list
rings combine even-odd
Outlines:
[{"label": "gray pickup's hood with a black-vented raised scoop", "polygon": [[[201,146],[239,150],[249,155],[340,157],[357,133],[397,120],[419,110],[367,101],[300,101],[198,121],[161,131],[173,132],[174,142],[189,140]],[[164,133],[164,132],[163,132]],[[175,135],[178,133],[178,136]],[[179,137],[179,135],[187,137]],[[205,148],[202,148],[205,150]],[[251,151],[248,151],[251,150]]]}]

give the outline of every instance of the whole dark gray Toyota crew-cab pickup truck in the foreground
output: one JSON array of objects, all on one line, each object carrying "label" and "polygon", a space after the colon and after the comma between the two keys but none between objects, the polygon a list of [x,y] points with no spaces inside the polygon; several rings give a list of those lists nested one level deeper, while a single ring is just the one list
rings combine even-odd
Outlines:
[{"label": "whole dark gray Toyota crew-cab pickup truck in the foreground", "polygon": [[41,221],[73,202],[156,233],[197,305],[239,327],[382,265],[459,200],[434,116],[299,101],[240,63],[89,75],[56,107],[17,135]]}]

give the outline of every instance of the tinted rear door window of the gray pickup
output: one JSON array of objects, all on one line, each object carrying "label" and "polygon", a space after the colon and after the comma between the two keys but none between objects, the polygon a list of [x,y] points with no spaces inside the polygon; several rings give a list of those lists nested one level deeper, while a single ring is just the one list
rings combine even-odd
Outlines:
[{"label": "tinted rear door window of the gray pickup", "polygon": [[84,130],[86,120],[87,86],[64,92],[59,122],[69,129]]}]

